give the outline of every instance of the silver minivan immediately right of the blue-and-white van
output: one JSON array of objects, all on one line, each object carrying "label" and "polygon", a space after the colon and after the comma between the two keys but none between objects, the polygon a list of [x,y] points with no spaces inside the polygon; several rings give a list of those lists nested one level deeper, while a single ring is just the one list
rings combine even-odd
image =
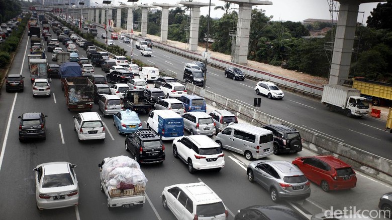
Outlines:
[{"label": "silver minivan immediately right of the blue-and-white van", "polygon": [[193,134],[215,135],[215,122],[205,112],[188,112],[182,115],[184,118],[184,129]]}]

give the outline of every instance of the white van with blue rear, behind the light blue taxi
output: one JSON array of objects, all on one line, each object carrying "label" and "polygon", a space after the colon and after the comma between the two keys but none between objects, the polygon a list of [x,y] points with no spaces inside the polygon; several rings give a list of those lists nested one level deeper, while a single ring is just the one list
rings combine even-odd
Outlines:
[{"label": "white van with blue rear, behind the light blue taxi", "polygon": [[154,110],[147,120],[147,128],[153,129],[162,140],[184,136],[184,121],[172,110]]}]

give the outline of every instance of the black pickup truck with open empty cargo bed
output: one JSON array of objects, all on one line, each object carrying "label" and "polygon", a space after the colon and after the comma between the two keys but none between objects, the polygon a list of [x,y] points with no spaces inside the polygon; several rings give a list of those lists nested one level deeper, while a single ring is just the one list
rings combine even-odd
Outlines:
[{"label": "black pickup truck with open empty cargo bed", "polygon": [[124,109],[132,111],[144,111],[146,114],[151,110],[151,102],[144,97],[143,90],[128,90],[123,98]]}]

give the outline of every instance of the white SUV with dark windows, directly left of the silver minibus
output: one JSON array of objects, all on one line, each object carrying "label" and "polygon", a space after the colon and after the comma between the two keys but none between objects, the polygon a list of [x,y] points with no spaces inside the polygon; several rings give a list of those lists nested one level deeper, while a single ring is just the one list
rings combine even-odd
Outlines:
[{"label": "white SUV with dark windows, directly left of the silver minibus", "polygon": [[173,155],[188,165],[190,173],[202,169],[219,171],[225,166],[225,154],[220,145],[206,135],[175,138],[173,140]]}]

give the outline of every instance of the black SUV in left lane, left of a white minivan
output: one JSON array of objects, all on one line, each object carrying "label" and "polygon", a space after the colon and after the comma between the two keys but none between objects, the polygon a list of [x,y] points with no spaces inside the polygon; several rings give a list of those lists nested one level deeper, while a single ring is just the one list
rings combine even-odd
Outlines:
[{"label": "black SUV in left lane, left of a white minivan", "polygon": [[46,139],[46,126],[45,117],[43,113],[33,112],[24,113],[18,118],[21,119],[19,124],[19,141],[30,138],[42,138]]}]

